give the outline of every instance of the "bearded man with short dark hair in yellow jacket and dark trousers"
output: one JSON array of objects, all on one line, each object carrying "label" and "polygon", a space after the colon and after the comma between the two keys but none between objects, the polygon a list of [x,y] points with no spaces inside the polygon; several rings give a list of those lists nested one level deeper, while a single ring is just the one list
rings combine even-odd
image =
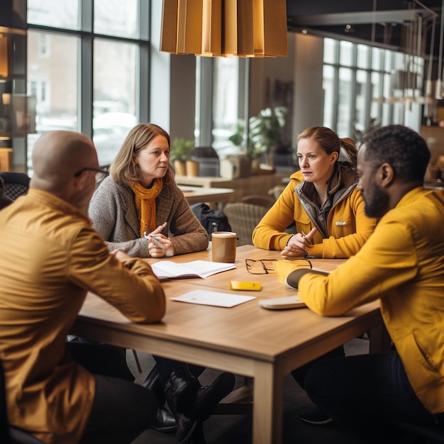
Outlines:
[{"label": "bearded man with short dark hair in yellow jacket and dark trousers", "polygon": [[369,443],[401,442],[396,421],[444,423],[444,204],[440,191],[423,188],[429,160],[426,142],[409,128],[369,133],[357,188],[367,216],[381,218],[374,233],[331,274],[287,277],[321,316],[380,301],[394,350],[323,360],[305,382],[317,406]]}]

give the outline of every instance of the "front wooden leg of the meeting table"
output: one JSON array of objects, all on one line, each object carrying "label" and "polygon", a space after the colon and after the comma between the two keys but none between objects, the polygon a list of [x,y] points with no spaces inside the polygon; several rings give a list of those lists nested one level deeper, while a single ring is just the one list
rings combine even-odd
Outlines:
[{"label": "front wooden leg of the meeting table", "polygon": [[254,378],[252,442],[281,443],[283,375],[271,362],[257,362]]}]

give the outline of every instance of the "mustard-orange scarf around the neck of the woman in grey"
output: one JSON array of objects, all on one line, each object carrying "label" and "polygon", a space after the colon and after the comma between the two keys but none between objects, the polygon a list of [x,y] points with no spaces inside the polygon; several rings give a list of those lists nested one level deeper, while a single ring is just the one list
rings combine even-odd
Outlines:
[{"label": "mustard-orange scarf around the neck of the woman in grey", "polygon": [[152,181],[151,188],[142,187],[139,183],[130,185],[134,192],[135,209],[140,219],[140,237],[143,233],[151,233],[157,228],[156,224],[156,197],[162,191],[163,181],[160,178]]}]

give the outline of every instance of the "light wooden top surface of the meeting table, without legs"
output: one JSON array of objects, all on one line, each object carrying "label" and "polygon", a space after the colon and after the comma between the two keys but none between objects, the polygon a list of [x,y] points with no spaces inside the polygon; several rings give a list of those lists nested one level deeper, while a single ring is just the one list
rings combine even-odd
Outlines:
[{"label": "light wooden top surface of the meeting table, without legs", "polygon": [[[80,316],[83,321],[92,323],[110,323],[116,331],[153,338],[173,340],[184,345],[199,345],[209,350],[224,351],[228,354],[240,354],[245,357],[274,361],[288,350],[306,348],[325,335],[340,334],[345,326],[362,323],[363,318],[372,318],[379,312],[379,304],[374,302],[353,309],[344,316],[321,318],[309,309],[270,311],[262,309],[257,300],[265,297],[281,297],[294,294],[284,284],[277,282],[276,274],[253,275],[245,268],[245,258],[279,258],[276,251],[260,250],[251,245],[238,248],[235,270],[215,274],[205,279],[172,279],[164,282],[167,297],[167,311],[160,323],[137,324],[128,321],[120,312],[100,299],[89,294]],[[171,260],[172,258],[168,258]],[[192,260],[211,260],[211,251],[174,257],[176,262]],[[157,259],[148,258],[148,262]],[[313,265],[324,270],[334,269],[341,260],[313,260]],[[231,280],[262,282],[260,292],[235,292],[228,289]],[[257,299],[240,304],[231,309],[187,304],[171,301],[171,296],[184,294],[192,289],[207,288],[231,294],[248,294]],[[87,318],[91,318],[90,321]],[[361,328],[362,329],[362,328]],[[362,333],[362,332],[360,332]],[[360,334],[357,333],[357,334]],[[325,339],[325,338],[324,338]]]}]

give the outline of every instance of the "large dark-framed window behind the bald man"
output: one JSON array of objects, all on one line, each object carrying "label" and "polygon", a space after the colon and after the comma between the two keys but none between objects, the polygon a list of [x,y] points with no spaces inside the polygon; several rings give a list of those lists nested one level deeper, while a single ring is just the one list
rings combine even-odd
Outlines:
[{"label": "large dark-framed window behind the bald man", "polygon": [[[28,0],[28,94],[37,101],[33,144],[46,131],[81,131],[108,165],[140,113],[148,77],[149,0]],[[140,98],[140,99],[139,99]]]}]

